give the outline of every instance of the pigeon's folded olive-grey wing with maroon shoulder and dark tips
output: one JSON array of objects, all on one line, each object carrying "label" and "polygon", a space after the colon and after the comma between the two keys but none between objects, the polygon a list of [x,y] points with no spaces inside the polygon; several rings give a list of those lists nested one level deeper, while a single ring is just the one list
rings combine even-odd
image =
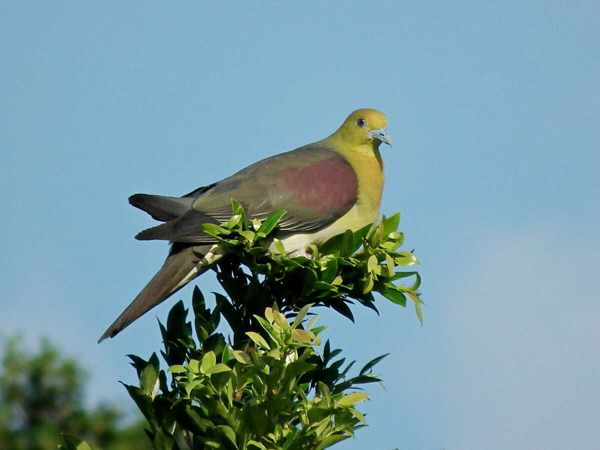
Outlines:
[{"label": "pigeon's folded olive-grey wing with maroon shoulder and dark tips", "polygon": [[209,244],[202,225],[229,220],[231,199],[248,218],[265,220],[285,209],[280,233],[311,233],[346,214],[356,203],[358,178],[350,163],[323,143],[314,143],[246,167],[214,185],[184,197],[135,194],[130,203],[166,223],[142,231],[136,239]]}]

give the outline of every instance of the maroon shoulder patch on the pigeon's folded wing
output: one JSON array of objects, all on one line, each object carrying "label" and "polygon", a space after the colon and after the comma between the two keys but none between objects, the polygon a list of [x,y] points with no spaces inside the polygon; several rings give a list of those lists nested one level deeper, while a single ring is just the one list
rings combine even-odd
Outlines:
[{"label": "maroon shoulder patch on the pigeon's folded wing", "polygon": [[318,216],[348,211],[356,203],[356,172],[340,155],[334,155],[302,169],[285,169],[275,188],[293,192],[292,206]]}]

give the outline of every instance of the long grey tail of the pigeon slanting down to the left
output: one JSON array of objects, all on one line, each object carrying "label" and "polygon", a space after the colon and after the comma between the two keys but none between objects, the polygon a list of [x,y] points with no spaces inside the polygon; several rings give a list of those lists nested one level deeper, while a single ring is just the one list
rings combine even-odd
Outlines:
[{"label": "long grey tail of the pigeon slanting down to the left", "polygon": [[146,284],[121,316],[113,322],[98,340],[101,343],[115,335],[138,317],[165,301],[217,262],[223,253],[218,245],[196,245],[185,248],[167,258],[163,267]]}]

